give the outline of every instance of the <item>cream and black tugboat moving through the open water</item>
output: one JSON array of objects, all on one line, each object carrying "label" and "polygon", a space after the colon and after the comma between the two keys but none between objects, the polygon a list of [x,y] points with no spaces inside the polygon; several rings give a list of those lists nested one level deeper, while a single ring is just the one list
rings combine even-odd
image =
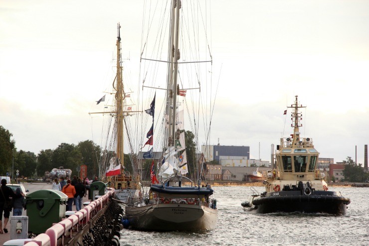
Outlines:
[{"label": "cream and black tugboat moving through the open water", "polygon": [[350,199],[341,192],[328,191],[325,174],[317,169],[319,152],[311,138],[302,138],[299,127],[302,114],[298,110],[298,96],[288,108],[292,108],[294,128],[291,137],[281,138],[277,145],[276,167],[266,173],[265,192],[255,189],[248,201],[241,204],[244,210],[257,214],[278,212],[324,213],[345,215]]}]

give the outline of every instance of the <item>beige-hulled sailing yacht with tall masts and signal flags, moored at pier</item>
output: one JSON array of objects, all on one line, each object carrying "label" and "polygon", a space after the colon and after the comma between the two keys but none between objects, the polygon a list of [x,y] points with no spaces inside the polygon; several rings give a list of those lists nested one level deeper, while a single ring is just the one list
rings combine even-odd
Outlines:
[{"label": "beige-hulled sailing yacht with tall masts and signal flags, moored at pier", "polygon": [[[192,106],[189,110],[194,111],[193,115],[200,115],[198,118],[201,119],[206,117],[204,111],[201,111],[203,108],[198,106],[197,109],[194,109],[193,105],[196,105],[197,102],[192,101],[193,98],[191,96],[189,98],[187,97],[192,89],[194,93],[198,94],[204,91],[202,87],[200,91],[200,80],[198,76],[201,73],[205,75],[209,74],[208,70],[210,68],[201,68],[201,64],[199,63],[211,63],[210,56],[207,57],[209,58],[208,60],[199,61],[197,60],[199,59],[199,53],[192,53],[198,51],[196,45],[198,45],[197,41],[199,41],[199,38],[186,38],[186,35],[189,34],[188,29],[186,29],[188,26],[186,25],[192,21],[189,21],[187,18],[189,16],[199,17],[200,15],[191,15],[191,13],[186,12],[187,10],[189,11],[190,8],[184,9],[184,4],[182,4],[181,0],[172,0],[165,7],[165,11],[169,12],[169,32],[161,29],[158,33],[160,33],[160,37],[168,33],[169,42],[163,40],[159,44],[156,44],[155,47],[159,46],[159,50],[168,50],[168,59],[163,61],[160,58],[141,57],[142,60],[152,62],[151,64],[154,67],[159,66],[158,63],[166,64],[167,86],[163,88],[155,85],[144,85],[146,88],[154,88],[153,94],[155,92],[150,109],[146,110],[146,113],[152,116],[153,123],[151,130],[147,134],[149,140],[145,145],[149,145],[149,147],[153,145],[154,147],[156,143],[159,143],[159,145],[162,143],[162,146],[159,147],[162,149],[162,156],[158,163],[154,164],[153,159],[152,165],[150,165],[152,167],[152,184],[149,187],[149,191],[146,194],[142,194],[142,196],[129,198],[125,206],[125,223],[128,228],[133,230],[198,232],[212,230],[217,223],[217,206],[216,200],[213,199],[214,190],[201,180],[201,177],[203,177],[203,164],[205,162],[203,154],[194,151],[191,155],[187,155],[188,162],[186,164],[184,162],[184,156],[186,156],[184,136],[186,135],[188,137],[191,135],[191,132],[185,131],[182,126],[184,119],[181,119],[180,116],[180,98],[185,101],[185,104],[189,105],[188,107]],[[160,23],[161,26],[166,26],[163,22],[166,19],[166,17],[160,17],[157,23]],[[182,22],[182,20],[188,22]],[[197,19],[197,21],[199,20],[200,18]],[[150,21],[150,23],[152,22],[154,21]],[[192,21],[191,25],[193,24],[194,21]],[[197,28],[203,27],[202,23],[199,22],[197,24]],[[192,32],[192,34],[197,34],[197,32],[198,30]],[[207,41],[207,39],[203,40]],[[160,46],[161,44],[169,44],[169,47],[162,48]],[[147,47],[146,43],[144,46],[145,48]],[[188,50],[185,50],[185,47],[189,47],[191,50],[188,52]],[[206,51],[208,51],[208,46],[205,47]],[[156,52],[142,52],[142,54],[153,53]],[[204,69],[206,70],[203,71]],[[146,74],[149,73],[145,72],[145,76]],[[192,76],[192,78],[187,78],[185,77],[186,75]],[[145,78],[145,83],[149,83],[149,79]],[[154,77],[152,80],[156,82],[159,79]],[[183,82],[194,82],[197,88],[183,88]],[[158,101],[159,94],[156,92],[163,90],[166,92],[164,103],[159,105],[164,105],[165,110],[161,114],[161,111],[158,110],[160,109],[158,108],[158,102],[156,102]],[[186,94],[187,97],[185,97]],[[159,122],[163,124],[158,133],[158,135],[160,134],[160,137],[157,137],[158,141],[154,141],[153,137],[156,136],[154,135],[156,132],[154,115],[157,116],[158,114],[160,114],[159,117],[162,116]],[[198,125],[197,119],[191,122],[192,124],[194,122],[194,125]],[[193,128],[194,132],[192,136],[195,141],[197,141],[198,134],[196,127]],[[195,147],[192,146],[191,148],[194,149]],[[148,158],[151,157],[150,151],[148,151],[147,156]],[[194,158],[190,161],[189,157]],[[191,174],[188,173],[189,166],[194,166],[194,169],[190,170],[192,172]]]}]

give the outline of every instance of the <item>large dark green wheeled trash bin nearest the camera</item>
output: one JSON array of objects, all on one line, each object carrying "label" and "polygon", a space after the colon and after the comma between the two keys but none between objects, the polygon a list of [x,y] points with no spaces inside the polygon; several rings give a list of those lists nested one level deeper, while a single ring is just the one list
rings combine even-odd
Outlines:
[{"label": "large dark green wheeled trash bin nearest the camera", "polygon": [[28,233],[41,234],[65,218],[68,197],[61,191],[39,190],[25,197]]}]

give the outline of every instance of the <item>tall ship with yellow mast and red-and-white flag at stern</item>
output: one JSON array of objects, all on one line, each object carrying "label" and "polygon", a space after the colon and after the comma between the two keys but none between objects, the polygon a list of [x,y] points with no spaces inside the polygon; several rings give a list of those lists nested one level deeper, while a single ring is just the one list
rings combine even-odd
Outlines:
[{"label": "tall ship with yellow mast and red-and-white flag at stern", "polygon": [[[130,94],[124,89],[120,28],[121,26],[118,23],[116,75],[111,88],[97,101],[97,104],[108,103],[104,105],[104,111],[90,112],[90,114],[107,116],[102,130],[104,133],[102,136],[104,149],[99,160],[99,178],[101,181],[106,182],[108,187],[115,189],[115,195],[120,201],[127,202],[128,197],[133,196],[136,190],[140,189],[140,182],[135,155],[126,155],[131,158],[129,164],[127,162],[130,165],[131,172],[128,171],[128,165],[125,164],[124,160],[124,140],[125,138],[130,138],[129,132],[126,130],[129,124],[126,117],[137,111],[133,111],[132,106],[128,105],[127,98],[130,98]],[[106,95],[110,95],[111,100],[108,100]],[[130,141],[128,142],[130,143]],[[130,153],[133,153],[133,148],[131,147]]]}]

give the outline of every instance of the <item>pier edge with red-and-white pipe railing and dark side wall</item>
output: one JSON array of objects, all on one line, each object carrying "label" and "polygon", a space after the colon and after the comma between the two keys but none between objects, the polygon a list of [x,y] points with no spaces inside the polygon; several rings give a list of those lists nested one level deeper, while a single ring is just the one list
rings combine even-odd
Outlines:
[{"label": "pier edge with red-and-white pipe railing and dark side wall", "polygon": [[[34,183],[23,184],[28,190],[28,195],[39,190],[50,190],[51,184]],[[53,223],[45,232],[33,235],[33,242],[25,243],[26,246],[67,246],[67,245],[119,245],[120,233],[122,229],[119,225],[121,207],[112,200],[114,190],[108,191],[105,195],[82,206],[79,212],[73,205],[72,211],[75,213],[66,216],[59,223]],[[88,196],[82,202],[90,202]],[[68,213],[69,214],[69,213]],[[104,215],[104,216],[102,216]],[[10,218],[7,225],[8,233],[0,235],[0,245],[10,240],[11,225]],[[27,210],[23,209],[22,216],[27,216]],[[42,219],[42,218],[41,218]],[[34,222],[32,222],[34,224]],[[42,223],[42,221],[40,221]],[[28,221],[28,225],[30,221]],[[30,228],[28,227],[28,232]],[[99,243],[101,242],[101,243]]]}]

